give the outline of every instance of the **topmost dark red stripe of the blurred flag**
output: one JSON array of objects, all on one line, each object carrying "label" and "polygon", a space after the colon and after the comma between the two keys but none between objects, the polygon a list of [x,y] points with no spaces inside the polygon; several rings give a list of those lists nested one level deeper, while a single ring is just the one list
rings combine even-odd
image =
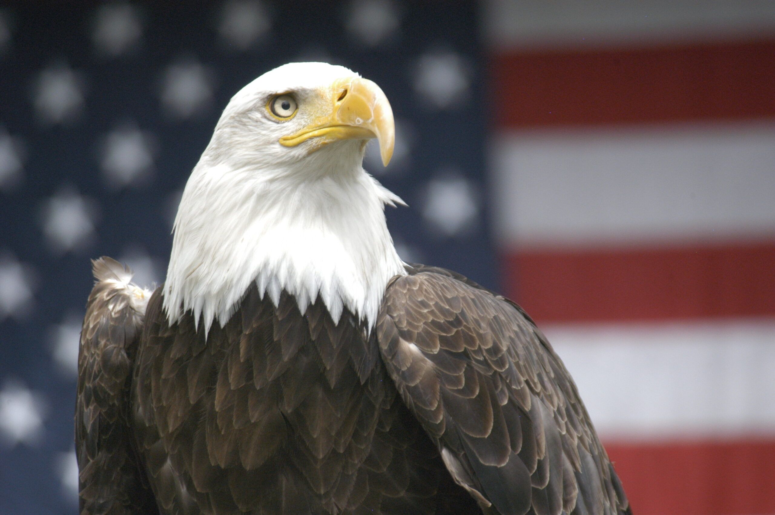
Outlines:
[{"label": "topmost dark red stripe of the blurred flag", "polygon": [[510,128],[775,116],[775,40],[508,51],[491,74]]}]

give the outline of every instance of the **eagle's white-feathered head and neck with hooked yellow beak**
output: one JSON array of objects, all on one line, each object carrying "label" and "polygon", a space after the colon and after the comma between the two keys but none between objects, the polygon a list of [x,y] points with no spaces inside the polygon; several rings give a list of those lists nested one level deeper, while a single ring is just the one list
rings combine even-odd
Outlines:
[{"label": "eagle's white-feathered head and neck with hooked yellow beak", "polygon": [[188,179],[174,224],[164,306],[225,323],[251,284],[299,310],[321,299],[376,320],[384,287],[405,273],[384,217],[402,203],[363,170],[369,139],[387,165],[393,112],[346,67],[291,63],[229,101]]}]

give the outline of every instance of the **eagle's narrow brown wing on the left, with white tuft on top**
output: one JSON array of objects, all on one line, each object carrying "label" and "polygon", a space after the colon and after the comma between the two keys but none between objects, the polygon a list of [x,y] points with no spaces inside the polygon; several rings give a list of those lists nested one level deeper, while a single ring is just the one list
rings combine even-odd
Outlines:
[{"label": "eagle's narrow brown wing on the left, with white tuft on top", "polygon": [[93,265],[75,405],[81,513],[158,513],[127,422],[133,359],[151,292],[130,284],[131,270],[113,259]]}]

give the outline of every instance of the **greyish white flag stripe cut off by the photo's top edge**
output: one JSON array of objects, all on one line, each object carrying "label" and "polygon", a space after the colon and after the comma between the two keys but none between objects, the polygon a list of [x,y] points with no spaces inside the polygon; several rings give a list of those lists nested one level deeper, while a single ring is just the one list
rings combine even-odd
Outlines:
[{"label": "greyish white flag stripe cut off by the photo's top edge", "polygon": [[771,0],[490,0],[484,33],[500,49],[625,46],[772,36]]}]

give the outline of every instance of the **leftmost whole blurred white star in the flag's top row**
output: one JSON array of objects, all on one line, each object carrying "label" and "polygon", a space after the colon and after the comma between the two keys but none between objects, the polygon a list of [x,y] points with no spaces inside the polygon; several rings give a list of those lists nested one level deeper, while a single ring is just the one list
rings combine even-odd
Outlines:
[{"label": "leftmost whole blurred white star in the flag's top row", "polygon": [[97,50],[115,57],[129,50],[143,36],[143,25],[135,8],[128,3],[100,5],[91,37]]}]

